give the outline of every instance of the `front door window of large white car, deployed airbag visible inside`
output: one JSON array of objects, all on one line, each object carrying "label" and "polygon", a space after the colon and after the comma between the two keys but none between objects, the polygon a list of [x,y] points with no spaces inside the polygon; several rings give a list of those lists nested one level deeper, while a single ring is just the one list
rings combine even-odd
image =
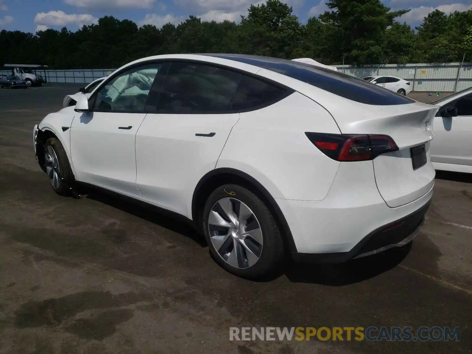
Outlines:
[{"label": "front door window of large white car, deployed airbag visible inside", "polygon": [[148,64],[121,72],[94,95],[94,111],[138,112],[146,106],[149,90],[162,64]]}]

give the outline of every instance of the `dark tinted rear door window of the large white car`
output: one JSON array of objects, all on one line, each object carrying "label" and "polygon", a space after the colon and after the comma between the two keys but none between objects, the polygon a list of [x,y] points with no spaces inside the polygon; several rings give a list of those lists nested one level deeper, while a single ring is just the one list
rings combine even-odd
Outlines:
[{"label": "dark tinted rear door window of the large white car", "polygon": [[229,112],[241,74],[211,65],[173,62],[162,84],[157,111],[174,114]]}]

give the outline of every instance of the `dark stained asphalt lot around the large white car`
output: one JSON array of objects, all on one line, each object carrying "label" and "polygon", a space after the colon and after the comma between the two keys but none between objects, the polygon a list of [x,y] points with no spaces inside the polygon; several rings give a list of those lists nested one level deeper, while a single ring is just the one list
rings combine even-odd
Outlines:
[{"label": "dark stained asphalt lot around the large white car", "polygon": [[[77,89],[0,90],[1,354],[471,353],[472,176],[437,174],[424,228],[404,248],[337,266],[287,263],[251,282],[222,270],[179,219],[52,191],[32,130]],[[460,337],[229,341],[229,327],[370,326],[460,327]]]}]

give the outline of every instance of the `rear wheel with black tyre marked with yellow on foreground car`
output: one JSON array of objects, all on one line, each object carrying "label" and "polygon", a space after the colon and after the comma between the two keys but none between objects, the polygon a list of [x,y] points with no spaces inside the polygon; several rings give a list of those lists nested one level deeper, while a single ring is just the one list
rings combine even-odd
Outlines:
[{"label": "rear wheel with black tyre marked with yellow on foreground car", "polygon": [[270,277],[284,260],[284,244],[267,206],[240,185],[222,185],[208,197],[203,230],[213,259],[246,279]]}]

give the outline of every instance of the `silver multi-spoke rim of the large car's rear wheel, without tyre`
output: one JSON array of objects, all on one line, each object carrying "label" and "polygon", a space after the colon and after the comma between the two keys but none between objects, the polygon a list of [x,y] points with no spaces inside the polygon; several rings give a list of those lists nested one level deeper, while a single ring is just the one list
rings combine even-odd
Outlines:
[{"label": "silver multi-spoke rim of the large car's rear wheel, without tyre", "polygon": [[211,243],[232,267],[250,268],[262,252],[262,230],[253,211],[236,198],[223,198],[208,216]]}]

